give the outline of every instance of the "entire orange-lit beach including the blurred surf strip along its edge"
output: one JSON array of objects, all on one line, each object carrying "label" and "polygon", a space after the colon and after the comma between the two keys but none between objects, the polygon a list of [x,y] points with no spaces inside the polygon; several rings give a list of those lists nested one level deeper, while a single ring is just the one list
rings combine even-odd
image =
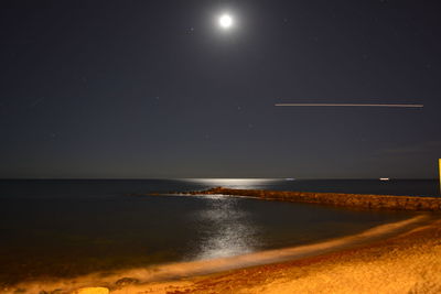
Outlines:
[{"label": "entire orange-lit beach including the blurred surf strip along its edge", "polygon": [[[271,264],[256,265],[262,263]],[[110,293],[437,293],[431,291],[441,292],[440,272],[441,220],[423,215],[312,246],[37,281],[3,292],[104,286]]]}]

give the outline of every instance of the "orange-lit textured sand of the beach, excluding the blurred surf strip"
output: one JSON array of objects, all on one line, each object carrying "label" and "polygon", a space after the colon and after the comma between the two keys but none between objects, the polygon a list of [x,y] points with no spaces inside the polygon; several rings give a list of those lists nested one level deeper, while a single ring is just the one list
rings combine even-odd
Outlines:
[{"label": "orange-lit textured sand of the beach, excluding the blurred surf strip", "polygon": [[440,293],[441,220],[356,249],[111,293]]}]

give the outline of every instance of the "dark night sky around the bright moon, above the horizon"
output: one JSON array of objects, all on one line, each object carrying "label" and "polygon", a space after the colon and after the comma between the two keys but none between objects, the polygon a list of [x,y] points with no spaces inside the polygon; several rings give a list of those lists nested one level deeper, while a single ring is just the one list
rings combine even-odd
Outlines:
[{"label": "dark night sky around the bright moon, above the horizon", "polygon": [[57,2],[0,11],[2,178],[438,174],[439,1]]}]

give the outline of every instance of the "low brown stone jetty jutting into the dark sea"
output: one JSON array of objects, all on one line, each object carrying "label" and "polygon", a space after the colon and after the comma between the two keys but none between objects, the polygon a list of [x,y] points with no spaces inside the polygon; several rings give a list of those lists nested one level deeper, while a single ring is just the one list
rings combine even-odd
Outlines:
[{"label": "low brown stone jetty jutting into the dark sea", "polygon": [[[224,195],[243,196],[263,200],[306,203],[359,209],[389,209],[413,211],[441,211],[441,198],[420,196],[394,196],[374,194],[345,194],[345,193],[313,193],[266,189],[235,189],[214,187],[205,190],[152,193],[149,196],[161,195]],[[141,195],[133,195],[141,196]]]}]

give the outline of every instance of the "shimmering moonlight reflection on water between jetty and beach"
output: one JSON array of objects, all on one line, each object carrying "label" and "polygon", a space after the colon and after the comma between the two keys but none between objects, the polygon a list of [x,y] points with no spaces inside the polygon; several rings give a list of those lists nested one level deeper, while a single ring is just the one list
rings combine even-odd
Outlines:
[{"label": "shimmering moonlight reflection on water between jetty and beach", "polygon": [[[202,241],[196,244],[194,259],[215,259],[249,253],[259,244],[257,226],[251,215],[240,209],[237,198],[204,196],[207,209],[197,214],[203,230]],[[214,228],[214,229],[213,229]]]}]

